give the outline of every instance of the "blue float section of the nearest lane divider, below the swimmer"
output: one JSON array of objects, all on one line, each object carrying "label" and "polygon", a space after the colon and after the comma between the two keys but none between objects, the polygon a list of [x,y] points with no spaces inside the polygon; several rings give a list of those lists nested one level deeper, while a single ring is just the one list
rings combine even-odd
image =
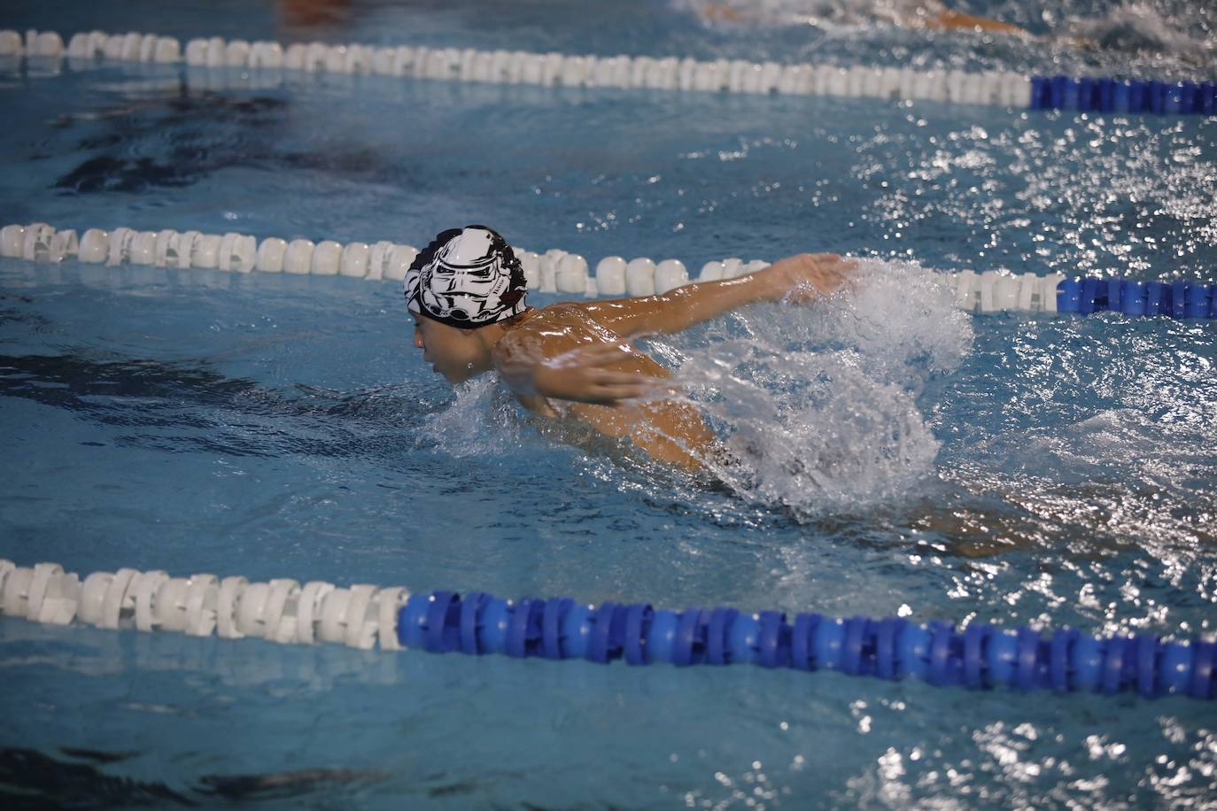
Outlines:
[{"label": "blue float section of the nearest lane divider, below the swimmer", "polygon": [[1053,689],[1144,698],[1217,697],[1217,644],[1154,635],[1093,637],[1071,629],[839,619],[734,608],[656,610],[647,603],[584,606],[566,597],[499,599],[482,592],[414,595],[398,613],[398,642],[431,653],[584,659],[630,665],[753,664],[938,687]]}]

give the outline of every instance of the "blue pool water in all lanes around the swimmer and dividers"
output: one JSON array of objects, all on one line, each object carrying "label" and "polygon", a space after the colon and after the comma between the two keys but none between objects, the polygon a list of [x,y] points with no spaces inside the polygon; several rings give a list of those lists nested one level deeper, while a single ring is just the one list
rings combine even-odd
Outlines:
[{"label": "blue pool water in all lanes around the swimmer and dividers", "polygon": [[[1211,52],[1204,4],[1154,7]],[[658,2],[320,9],[309,26],[298,4],[51,15],[16,2],[0,27],[1212,71],[1211,57],[1170,49],[705,26]],[[1051,21],[1116,7],[970,9],[1048,35]],[[486,221],[593,263],[675,257],[696,270],[824,248],[932,269],[1217,281],[1212,120],[375,77],[248,84],[135,66],[4,75],[0,221],[413,244]],[[2,259],[0,557],[1212,633],[1212,322],[966,316],[926,270],[888,264],[867,278],[852,300],[755,308],[649,345],[724,438],[751,449],[748,477],[714,483],[559,444],[486,381],[454,394],[413,350],[391,283]],[[796,460],[828,473],[806,477]],[[12,619],[0,619],[0,790],[16,807],[1217,796],[1217,713],[1185,698]]]}]

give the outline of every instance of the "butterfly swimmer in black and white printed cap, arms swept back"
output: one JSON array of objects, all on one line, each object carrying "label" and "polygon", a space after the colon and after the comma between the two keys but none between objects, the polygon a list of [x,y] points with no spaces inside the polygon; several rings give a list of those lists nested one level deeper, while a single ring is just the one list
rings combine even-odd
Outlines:
[{"label": "butterfly swimmer in black and white printed cap, arms swept back", "polygon": [[809,302],[840,288],[854,263],[797,254],[764,270],[645,298],[526,304],[523,269],[482,225],[439,233],[405,276],[414,345],[449,383],[499,374],[528,411],[628,438],[684,468],[718,452],[692,405],[671,394],[668,371],[632,340],[673,333],[756,302]]}]

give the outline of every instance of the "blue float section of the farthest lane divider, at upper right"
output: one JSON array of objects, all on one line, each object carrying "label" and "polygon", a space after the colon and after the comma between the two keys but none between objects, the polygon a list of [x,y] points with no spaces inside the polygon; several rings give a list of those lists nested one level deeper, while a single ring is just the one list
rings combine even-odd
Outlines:
[{"label": "blue float section of the farthest lane divider, at upper right", "polygon": [[1217,84],[1034,75],[1031,77],[1028,106],[1031,109],[1100,113],[1215,116]]}]

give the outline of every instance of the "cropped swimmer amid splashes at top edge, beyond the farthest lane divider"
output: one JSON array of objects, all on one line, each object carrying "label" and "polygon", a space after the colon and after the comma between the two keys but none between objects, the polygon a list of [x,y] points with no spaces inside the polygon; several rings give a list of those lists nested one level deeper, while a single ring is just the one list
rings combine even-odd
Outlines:
[{"label": "cropped swimmer amid splashes at top edge, beyond the farthest lane divider", "polygon": [[790,21],[828,21],[841,24],[887,22],[904,28],[941,30],[981,30],[1025,35],[1019,26],[952,11],[941,0],[763,0],[739,2],[727,0],[686,0],[706,19],[752,22],[781,18]]}]

